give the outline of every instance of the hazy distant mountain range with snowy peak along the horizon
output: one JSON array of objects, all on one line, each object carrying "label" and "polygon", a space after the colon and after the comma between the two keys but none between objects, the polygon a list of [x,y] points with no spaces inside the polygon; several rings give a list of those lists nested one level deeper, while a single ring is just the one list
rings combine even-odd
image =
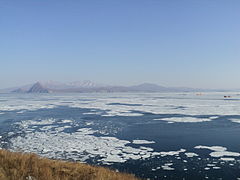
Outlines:
[{"label": "hazy distant mountain range with snowy peak along the horizon", "polygon": [[0,90],[5,93],[89,93],[89,92],[197,92],[208,91],[186,87],[164,87],[157,84],[143,83],[135,86],[111,86],[92,81],[61,83],[55,81],[36,82],[21,87]]}]

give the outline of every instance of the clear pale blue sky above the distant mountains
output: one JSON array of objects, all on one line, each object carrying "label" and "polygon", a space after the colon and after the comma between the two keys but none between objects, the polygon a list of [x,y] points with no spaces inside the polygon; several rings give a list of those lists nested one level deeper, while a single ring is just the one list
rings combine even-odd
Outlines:
[{"label": "clear pale blue sky above the distant mountains", "polygon": [[240,88],[239,0],[0,0],[0,88]]}]

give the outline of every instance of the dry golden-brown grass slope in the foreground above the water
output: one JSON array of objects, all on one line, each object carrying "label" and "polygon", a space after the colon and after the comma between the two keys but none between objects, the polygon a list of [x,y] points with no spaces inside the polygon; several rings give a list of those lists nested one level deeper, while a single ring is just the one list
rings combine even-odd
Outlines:
[{"label": "dry golden-brown grass slope in the foreground above the water", "polygon": [[0,150],[0,180],[137,180],[103,167]]}]

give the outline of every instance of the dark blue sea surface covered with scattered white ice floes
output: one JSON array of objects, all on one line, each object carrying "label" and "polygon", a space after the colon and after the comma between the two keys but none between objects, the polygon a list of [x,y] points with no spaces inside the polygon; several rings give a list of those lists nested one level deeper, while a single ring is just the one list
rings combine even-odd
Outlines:
[{"label": "dark blue sea surface covered with scattered white ice floes", "polygon": [[0,94],[0,148],[149,179],[237,180],[240,94]]}]

